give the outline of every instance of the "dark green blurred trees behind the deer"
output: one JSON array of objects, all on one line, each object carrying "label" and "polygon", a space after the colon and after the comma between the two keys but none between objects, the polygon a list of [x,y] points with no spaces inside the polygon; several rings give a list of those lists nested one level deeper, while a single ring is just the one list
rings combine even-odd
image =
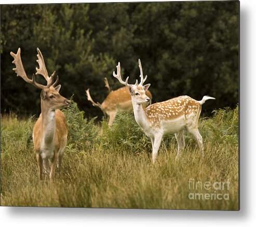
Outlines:
[{"label": "dark green blurred trees behind the deer", "polygon": [[[112,72],[118,61],[129,82],[139,77],[138,59],[151,83],[153,103],[178,95],[206,103],[205,112],[238,102],[239,2],[152,2],[1,6],[1,112],[40,112],[40,91],[17,78],[10,51],[21,47],[26,73],[35,73],[36,47],[49,74],[54,70],[65,97],[102,116],[85,90],[102,102],[120,87]],[[44,82],[40,76],[36,79]]]}]

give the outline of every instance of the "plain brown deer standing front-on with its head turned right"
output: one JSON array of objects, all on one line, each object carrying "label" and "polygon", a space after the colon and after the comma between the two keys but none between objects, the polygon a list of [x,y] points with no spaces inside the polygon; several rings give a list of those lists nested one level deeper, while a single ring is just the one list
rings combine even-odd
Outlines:
[{"label": "plain brown deer standing front-on with its head turned right", "polygon": [[[61,85],[57,86],[59,77],[53,83],[55,72],[48,76],[45,62],[41,51],[37,48],[36,60],[39,64],[39,69],[36,68],[36,74],[42,75],[47,81],[47,85],[39,84],[35,81],[35,75],[29,79],[23,68],[20,56],[20,48],[17,54],[10,52],[14,58],[16,68],[13,70],[17,76],[23,80],[33,84],[36,88],[41,89],[41,115],[37,119],[33,129],[33,142],[36,152],[36,159],[38,165],[38,177],[42,179],[43,166],[45,173],[49,174],[49,178],[53,179],[55,175],[55,168],[57,164],[61,165],[63,152],[66,146],[68,136],[68,126],[61,108],[68,107],[70,101],[59,94]],[[51,164],[49,162],[51,160]]]}]

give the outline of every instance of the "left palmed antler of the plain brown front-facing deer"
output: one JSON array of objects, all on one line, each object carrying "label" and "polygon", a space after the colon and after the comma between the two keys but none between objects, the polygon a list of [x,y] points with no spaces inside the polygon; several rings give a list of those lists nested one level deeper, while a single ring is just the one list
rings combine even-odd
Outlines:
[{"label": "left palmed antler of the plain brown front-facing deer", "polygon": [[20,58],[20,48],[18,49],[17,54],[15,54],[14,52],[10,52],[10,55],[14,58],[14,61],[12,61],[12,63],[14,63],[16,66],[16,68],[12,68],[12,70],[14,70],[15,73],[17,73],[17,76],[21,77],[23,80],[25,80],[28,83],[32,83],[35,87],[39,89],[43,89],[44,86],[35,81],[35,74],[33,74],[32,79],[29,79],[28,76],[26,75],[21,58]]}]

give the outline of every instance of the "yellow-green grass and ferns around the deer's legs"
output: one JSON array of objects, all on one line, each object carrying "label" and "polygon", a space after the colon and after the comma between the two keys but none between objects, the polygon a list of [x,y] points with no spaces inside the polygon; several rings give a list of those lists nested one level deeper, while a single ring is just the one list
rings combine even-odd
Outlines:
[{"label": "yellow-green grass and ferns around the deer's legs", "polygon": [[[87,121],[74,102],[64,112],[69,125],[68,145],[62,169],[53,182],[37,178],[32,141],[36,119],[2,116],[2,206],[239,208],[238,107],[218,110],[214,117],[200,119],[204,158],[195,140],[186,134],[186,149],[175,161],[177,142],[174,136],[168,136],[155,165],[151,163],[151,141],[132,113],[119,113],[110,129],[106,122],[100,127],[93,119]],[[197,188],[189,181],[195,182]],[[228,188],[214,185],[227,181]],[[192,199],[191,193],[209,193],[213,198]],[[214,194],[228,194],[228,200],[214,199]]]}]

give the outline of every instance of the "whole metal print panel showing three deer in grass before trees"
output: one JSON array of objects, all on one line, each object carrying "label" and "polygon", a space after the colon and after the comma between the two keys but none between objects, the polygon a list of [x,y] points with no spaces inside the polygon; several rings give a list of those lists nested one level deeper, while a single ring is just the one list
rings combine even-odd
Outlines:
[{"label": "whole metal print panel showing three deer in grass before trees", "polygon": [[1,5],[1,34],[1,206],[239,209],[238,1]]}]

